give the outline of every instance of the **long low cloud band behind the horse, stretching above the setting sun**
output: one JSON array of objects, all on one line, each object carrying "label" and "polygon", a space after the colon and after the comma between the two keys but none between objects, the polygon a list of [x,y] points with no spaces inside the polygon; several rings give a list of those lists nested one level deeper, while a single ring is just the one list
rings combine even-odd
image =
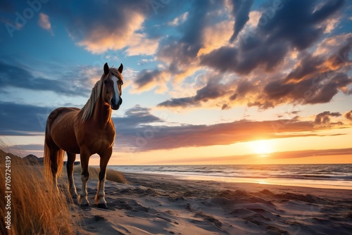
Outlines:
[{"label": "long low cloud band behind the horse, stretching above the setting sun", "polygon": [[[0,102],[0,135],[44,134],[50,107]],[[134,106],[120,117],[114,117],[115,145],[123,151],[150,151],[189,146],[227,145],[254,139],[276,139],[297,136],[321,136],[316,131],[329,129],[325,117],[339,113],[320,113],[314,121],[298,118],[251,121],[238,120],[214,125],[168,124],[151,113],[150,108]],[[23,118],[25,113],[26,118]],[[343,127],[343,126],[341,126]],[[313,133],[312,131],[315,131]]]}]

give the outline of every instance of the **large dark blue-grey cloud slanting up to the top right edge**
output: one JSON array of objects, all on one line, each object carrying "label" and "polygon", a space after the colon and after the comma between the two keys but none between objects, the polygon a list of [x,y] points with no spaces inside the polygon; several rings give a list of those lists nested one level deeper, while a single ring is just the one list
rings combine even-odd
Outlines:
[{"label": "large dark blue-grey cloud slanting up to the top right edge", "polygon": [[216,49],[202,56],[201,64],[222,72],[241,74],[260,65],[270,71],[291,49],[302,51],[317,42],[325,30],[322,22],[336,13],[344,2],[326,1],[316,10],[320,1],[282,1],[282,7],[275,10],[270,1],[271,4],[262,8],[256,29],[246,32],[239,40],[239,46]]}]

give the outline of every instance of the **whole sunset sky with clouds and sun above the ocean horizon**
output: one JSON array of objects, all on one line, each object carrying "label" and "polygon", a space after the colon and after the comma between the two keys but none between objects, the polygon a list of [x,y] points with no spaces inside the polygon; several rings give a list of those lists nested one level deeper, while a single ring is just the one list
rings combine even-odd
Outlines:
[{"label": "whole sunset sky with clouds and sun above the ocean horizon", "polygon": [[[352,163],[347,0],[0,2],[0,146],[123,64],[109,165]],[[99,164],[93,155],[90,164]]]}]

